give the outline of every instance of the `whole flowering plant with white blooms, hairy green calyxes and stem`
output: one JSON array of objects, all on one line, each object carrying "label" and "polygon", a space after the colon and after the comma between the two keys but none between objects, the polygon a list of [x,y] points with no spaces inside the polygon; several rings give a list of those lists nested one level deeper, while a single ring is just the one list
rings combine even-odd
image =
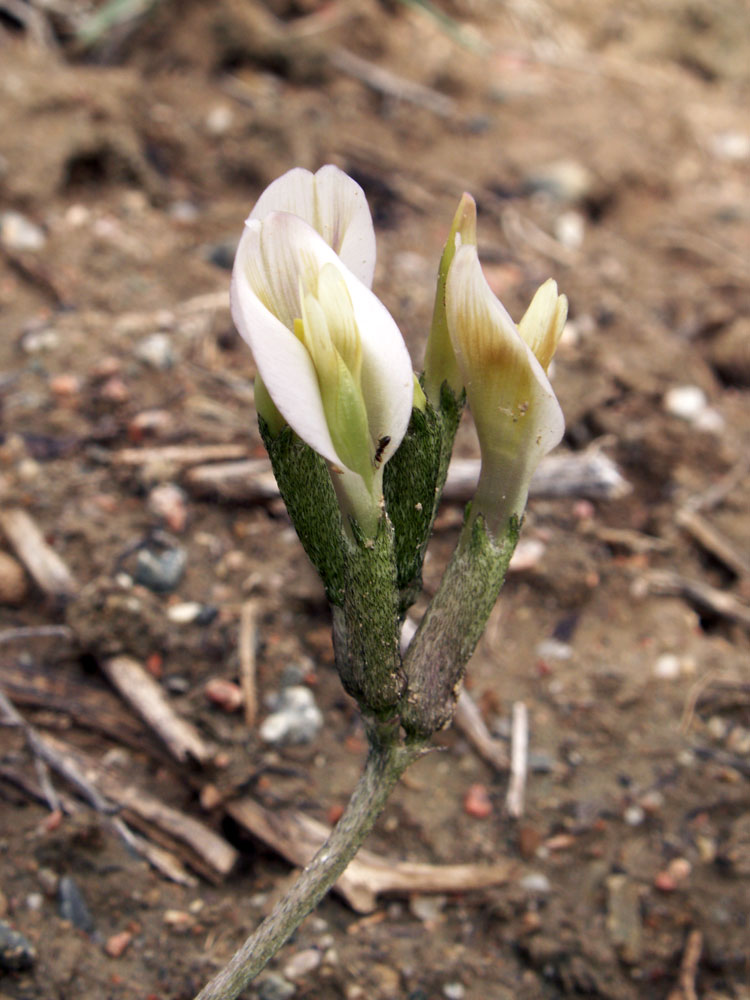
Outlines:
[{"label": "whole flowering plant with white blooms, hairy green calyxes and stem", "polygon": [[[251,212],[232,315],[252,349],[261,433],[332,606],[336,667],[370,753],[326,844],[197,1000],[232,1000],[333,885],[401,774],[450,723],[466,663],[503,584],[529,482],[561,439],[547,370],[567,301],[545,282],[516,326],[482,274],[464,195],[438,269],[419,379],[371,290],[375,235],[358,184],[295,169]],[[468,402],[482,468],[456,550],[405,651],[401,626]]]}]

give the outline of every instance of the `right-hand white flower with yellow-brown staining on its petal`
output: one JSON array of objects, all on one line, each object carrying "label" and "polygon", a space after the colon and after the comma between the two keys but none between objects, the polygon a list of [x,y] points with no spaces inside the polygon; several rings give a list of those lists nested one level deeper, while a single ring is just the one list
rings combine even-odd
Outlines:
[{"label": "right-hand white flower with yellow-brown staining on its petal", "polygon": [[516,327],[487,284],[476,247],[456,250],[446,316],[482,454],[472,513],[494,535],[523,514],[534,470],[565,429],[546,368],[566,314],[567,300],[546,282]]}]

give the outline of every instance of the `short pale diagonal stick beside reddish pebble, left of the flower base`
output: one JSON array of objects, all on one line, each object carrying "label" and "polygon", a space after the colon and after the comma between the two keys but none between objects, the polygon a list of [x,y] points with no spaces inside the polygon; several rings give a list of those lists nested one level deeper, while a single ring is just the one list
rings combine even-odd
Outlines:
[{"label": "short pale diagonal stick beside reddish pebble, left of the flower base", "polygon": [[101,668],[110,683],[166,744],[180,763],[193,758],[205,764],[213,749],[198,730],[183,719],[167,700],[161,685],[130,656],[103,660]]}]

